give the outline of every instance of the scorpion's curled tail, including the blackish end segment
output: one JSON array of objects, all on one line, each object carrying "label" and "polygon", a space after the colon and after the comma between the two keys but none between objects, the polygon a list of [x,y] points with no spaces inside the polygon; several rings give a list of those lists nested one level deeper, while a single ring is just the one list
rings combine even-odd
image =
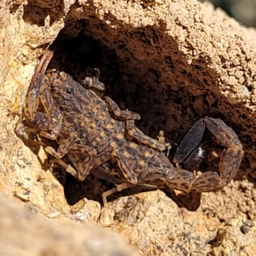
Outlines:
[{"label": "scorpion's curled tail, including the blackish end segment", "polygon": [[[185,170],[180,171],[179,165],[183,166],[183,163],[185,163],[184,166],[188,166],[189,159],[195,161],[195,163],[191,165],[195,166],[198,164],[198,161],[200,161],[200,158],[202,158],[199,157],[200,154],[198,152],[200,152],[200,150],[198,151],[198,148],[202,145],[201,141],[204,136],[205,128],[210,132],[213,139],[223,147],[219,171],[205,172],[199,177],[196,177],[196,179],[191,179],[191,184],[189,184],[188,188],[185,184],[186,190],[176,188],[186,193],[217,191],[223,188],[234,178],[243,158],[243,147],[236,132],[219,118],[200,118],[195,125],[189,129],[173,158],[173,162],[177,165],[177,173],[183,173],[182,177],[186,177],[187,173],[184,172]],[[193,133],[195,134],[194,137]],[[170,183],[170,181],[168,181],[168,183]]]}]

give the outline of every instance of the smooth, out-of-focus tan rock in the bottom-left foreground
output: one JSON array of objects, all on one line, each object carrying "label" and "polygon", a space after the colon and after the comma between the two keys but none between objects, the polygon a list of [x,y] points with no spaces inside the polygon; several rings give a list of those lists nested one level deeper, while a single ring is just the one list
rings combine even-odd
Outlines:
[{"label": "smooth, out-of-focus tan rock in the bottom-left foreground", "polygon": [[79,223],[63,225],[3,193],[0,216],[1,255],[137,255],[114,232]]}]

